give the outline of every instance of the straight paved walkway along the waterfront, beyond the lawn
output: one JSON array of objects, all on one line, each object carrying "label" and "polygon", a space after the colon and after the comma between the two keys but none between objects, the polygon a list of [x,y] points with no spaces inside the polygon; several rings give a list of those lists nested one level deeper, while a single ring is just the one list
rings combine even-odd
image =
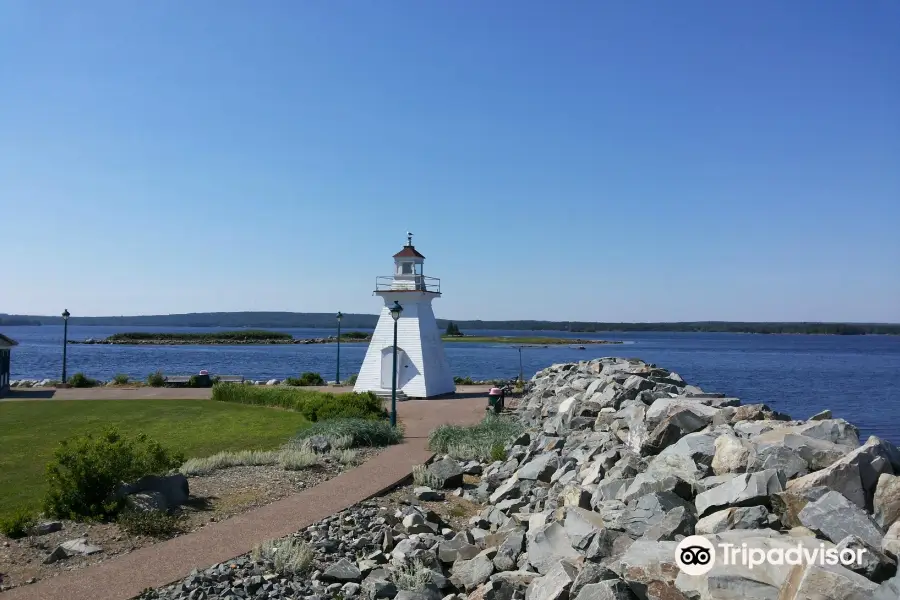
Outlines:
[{"label": "straight paved walkway along the waterfront, beyond the lawn", "polygon": [[[352,392],[352,387],[311,386],[302,389],[333,394]],[[487,402],[488,385],[458,385],[456,393],[446,399],[481,398]],[[2,402],[22,400],[208,400],[210,388],[98,387],[98,388],[13,388]]]}]

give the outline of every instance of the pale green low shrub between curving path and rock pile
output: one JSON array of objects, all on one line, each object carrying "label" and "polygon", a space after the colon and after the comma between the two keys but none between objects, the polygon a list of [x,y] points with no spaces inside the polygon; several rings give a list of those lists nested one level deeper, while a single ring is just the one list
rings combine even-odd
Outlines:
[{"label": "pale green low shrub between curving path and rock pile", "polygon": [[488,415],[471,427],[441,425],[428,436],[428,448],[457,460],[494,460],[499,454],[496,448],[503,450],[522,431],[522,425],[512,419]]}]

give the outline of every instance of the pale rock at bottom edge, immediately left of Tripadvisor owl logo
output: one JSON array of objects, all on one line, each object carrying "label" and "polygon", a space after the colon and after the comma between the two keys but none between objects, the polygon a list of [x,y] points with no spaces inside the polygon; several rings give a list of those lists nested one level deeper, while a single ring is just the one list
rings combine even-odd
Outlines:
[{"label": "pale rock at bottom edge, immediately left of Tripadvisor owl logo", "polygon": [[642,600],[686,600],[675,587],[675,542],[638,540],[619,560],[622,579]]}]

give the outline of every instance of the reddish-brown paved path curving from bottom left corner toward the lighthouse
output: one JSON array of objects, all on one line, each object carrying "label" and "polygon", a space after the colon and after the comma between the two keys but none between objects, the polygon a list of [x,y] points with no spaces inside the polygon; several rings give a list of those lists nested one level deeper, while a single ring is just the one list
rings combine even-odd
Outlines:
[{"label": "reddish-brown paved path curving from bottom left corner toward the lighthouse", "polygon": [[[69,390],[65,390],[69,391]],[[359,467],[283,500],[207,525],[100,564],[0,593],[0,600],[127,600],[289,535],[394,487],[431,457],[428,433],[444,423],[473,424],[484,415],[481,397],[412,400],[398,405],[406,441]]]}]

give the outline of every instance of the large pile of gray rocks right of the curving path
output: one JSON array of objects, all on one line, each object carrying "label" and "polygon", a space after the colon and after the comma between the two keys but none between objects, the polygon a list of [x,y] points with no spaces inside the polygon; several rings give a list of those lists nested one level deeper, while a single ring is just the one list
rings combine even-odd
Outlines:
[{"label": "large pile of gray rocks right of the curving path", "polygon": [[[900,597],[900,451],[877,437],[861,444],[856,427],[827,411],[791,420],[638,360],[603,358],[537,373],[516,418],[527,433],[505,461],[443,457],[429,467],[433,487],[481,472],[477,487],[454,492],[484,504],[466,530],[414,506],[387,514],[364,504],[298,534],[316,551],[311,575],[273,574],[245,557],[151,597]],[[676,548],[693,535],[715,547],[863,560],[749,566],[720,556],[689,575]]]}]

